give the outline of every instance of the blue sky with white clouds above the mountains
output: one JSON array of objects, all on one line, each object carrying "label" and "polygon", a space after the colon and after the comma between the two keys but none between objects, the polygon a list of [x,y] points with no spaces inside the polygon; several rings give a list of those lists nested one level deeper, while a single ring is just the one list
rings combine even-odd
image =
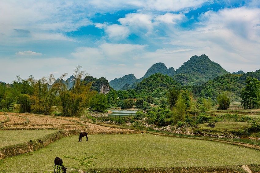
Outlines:
[{"label": "blue sky with white clouds above the mountains", "polygon": [[260,69],[259,0],[0,0],[0,81],[82,71],[108,81],[206,54]]}]

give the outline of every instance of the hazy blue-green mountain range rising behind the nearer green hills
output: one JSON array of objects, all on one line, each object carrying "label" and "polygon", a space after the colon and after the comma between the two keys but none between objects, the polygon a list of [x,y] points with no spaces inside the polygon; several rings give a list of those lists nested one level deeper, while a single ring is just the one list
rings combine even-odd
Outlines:
[{"label": "hazy blue-green mountain range rising behind the nearer green hills", "polygon": [[[206,81],[214,79],[214,77],[230,74],[230,72],[222,68],[221,65],[211,61],[208,56],[195,55],[176,71],[173,67],[168,69],[164,63],[155,63],[140,79],[136,79],[134,74],[128,74],[118,79],[115,78],[111,80],[109,84],[115,90],[134,88],[137,83],[140,83],[143,79],[155,73],[167,74],[168,76],[173,77],[173,79],[181,85],[202,85]],[[243,74],[243,71],[237,73]]]}]

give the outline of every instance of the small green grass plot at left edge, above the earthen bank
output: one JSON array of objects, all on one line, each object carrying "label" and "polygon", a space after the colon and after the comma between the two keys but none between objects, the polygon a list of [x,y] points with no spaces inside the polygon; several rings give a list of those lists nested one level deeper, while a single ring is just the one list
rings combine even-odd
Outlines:
[{"label": "small green grass plot at left edge, above the earthen bank", "polygon": [[42,138],[43,136],[56,131],[57,130],[1,130],[0,148]]}]

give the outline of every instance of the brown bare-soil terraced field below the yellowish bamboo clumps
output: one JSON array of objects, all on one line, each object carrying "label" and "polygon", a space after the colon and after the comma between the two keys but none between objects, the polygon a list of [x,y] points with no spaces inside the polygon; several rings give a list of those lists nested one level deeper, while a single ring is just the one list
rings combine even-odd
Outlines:
[{"label": "brown bare-soil terraced field below the yellowish bamboo clumps", "polygon": [[[9,120],[8,120],[8,118]],[[89,134],[136,133],[134,130],[104,127],[75,117],[56,117],[30,113],[3,113],[0,112],[1,130],[17,129],[79,129]]]}]

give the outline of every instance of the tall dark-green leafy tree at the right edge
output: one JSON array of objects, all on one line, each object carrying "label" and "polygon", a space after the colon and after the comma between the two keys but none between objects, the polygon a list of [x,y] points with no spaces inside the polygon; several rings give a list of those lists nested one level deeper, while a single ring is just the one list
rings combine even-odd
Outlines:
[{"label": "tall dark-green leafy tree at the right edge", "polygon": [[260,81],[256,78],[248,76],[245,88],[241,91],[241,104],[244,109],[257,108],[260,104]]}]

